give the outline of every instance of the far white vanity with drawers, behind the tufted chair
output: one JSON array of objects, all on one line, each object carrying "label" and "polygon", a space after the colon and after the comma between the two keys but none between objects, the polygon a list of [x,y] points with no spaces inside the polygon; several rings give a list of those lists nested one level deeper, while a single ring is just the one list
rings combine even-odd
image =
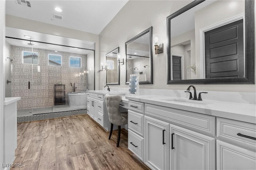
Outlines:
[{"label": "far white vanity with drawers, behind the tufted chair", "polygon": [[[108,119],[108,111],[105,103],[106,94],[125,95],[125,92],[108,92],[105,90],[88,90],[87,91],[87,114],[101,125],[106,131],[110,131],[111,123]],[[127,102],[121,102],[120,106],[128,106]],[[114,127],[116,128],[116,127]]]}]

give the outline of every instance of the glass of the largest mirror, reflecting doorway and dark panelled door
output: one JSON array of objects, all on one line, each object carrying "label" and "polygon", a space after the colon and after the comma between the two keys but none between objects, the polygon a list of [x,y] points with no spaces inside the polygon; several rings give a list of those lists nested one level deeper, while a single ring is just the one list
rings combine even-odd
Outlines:
[{"label": "glass of the largest mirror, reflecting doorway and dark panelled door", "polygon": [[[172,72],[171,54],[174,53],[184,55],[182,80],[244,77],[244,42],[237,39],[238,37],[242,37],[241,40],[244,39],[244,20],[242,20],[244,6],[244,0],[206,0],[172,18],[168,63],[170,78],[177,80],[174,79],[174,72]],[[240,20],[238,29],[231,29],[235,25],[229,24],[238,20]],[[234,37],[235,30],[238,31],[237,38]],[[217,33],[218,31],[221,33]],[[206,35],[207,33],[211,35]],[[211,36],[210,40],[206,39],[207,36]],[[214,42],[213,39],[219,38],[223,40],[208,43],[210,47],[207,48],[210,48],[210,51],[207,52],[205,41]],[[236,47],[235,43],[240,45]],[[184,50],[185,48],[187,49]],[[209,59],[210,53],[211,59]],[[189,57],[186,56],[187,54]]]}]

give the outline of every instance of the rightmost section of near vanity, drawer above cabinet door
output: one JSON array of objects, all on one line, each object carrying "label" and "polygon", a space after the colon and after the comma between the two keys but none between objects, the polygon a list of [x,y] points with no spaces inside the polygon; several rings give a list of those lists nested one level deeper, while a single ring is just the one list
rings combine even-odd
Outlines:
[{"label": "rightmost section of near vanity, drawer above cabinet door", "polygon": [[256,125],[217,118],[217,169],[256,169]]}]

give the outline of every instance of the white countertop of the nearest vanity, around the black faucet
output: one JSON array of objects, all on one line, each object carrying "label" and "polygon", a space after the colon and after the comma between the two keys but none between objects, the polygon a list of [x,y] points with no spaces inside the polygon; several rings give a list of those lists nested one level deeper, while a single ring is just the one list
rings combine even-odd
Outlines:
[{"label": "white countertop of the nearest vanity, around the black faucet", "polygon": [[[168,96],[158,95],[142,95],[142,96],[126,96],[128,100],[155,104],[159,106],[193,111],[206,115],[224,117],[238,121],[245,121],[256,124],[256,105],[255,104],[240,104],[234,102],[218,102],[213,100],[179,102]],[[181,98],[180,98],[181,99]],[[168,101],[166,101],[168,100]],[[187,101],[187,99],[184,99]]]}]

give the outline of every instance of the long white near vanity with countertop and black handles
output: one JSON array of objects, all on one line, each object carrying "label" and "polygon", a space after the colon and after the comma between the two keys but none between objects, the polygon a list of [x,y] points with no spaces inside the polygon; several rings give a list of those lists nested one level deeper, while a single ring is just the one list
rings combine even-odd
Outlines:
[{"label": "long white near vanity with countertop and black handles", "polygon": [[128,148],[151,169],[256,169],[255,104],[126,96]]}]

